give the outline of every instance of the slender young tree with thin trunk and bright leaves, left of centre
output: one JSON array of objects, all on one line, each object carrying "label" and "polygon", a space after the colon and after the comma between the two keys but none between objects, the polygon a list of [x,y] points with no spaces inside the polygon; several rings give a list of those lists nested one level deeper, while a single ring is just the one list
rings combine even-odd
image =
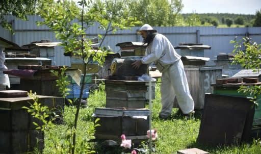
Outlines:
[{"label": "slender young tree with thin trunk and bright leaves, left of centre", "polygon": [[[65,53],[72,52],[74,55],[80,56],[84,65],[80,98],[76,100],[74,124],[73,127],[69,128],[72,132],[72,135],[69,136],[72,137],[72,139],[70,139],[70,145],[63,145],[71,150],[70,153],[74,153],[76,149],[77,120],[85,85],[84,81],[87,64],[90,62],[90,58],[92,58],[93,61],[99,62],[100,65],[103,64],[105,56],[110,51],[101,45],[104,37],[106,37],[109,32],[114,33],[118,30],[127,29],[139,22],[132,17],[123,18],[117,14],[118,12],[121,12],[120,8],[118,8],[119,10],[109,10],[109,8],[106,8],[99,0],[82,0],[77,2],[77,5],[73,1],[67,0],[59,0],[57,2],[55,0],[43,0],[41,2],[39,15],[42,17],[43,21],[38,22],[38,24],[46,24],[51,31],[54,31],[56,33],[56,38],[61,40],[61,45],[63,46]],[[88,38],[88,33],[86,33],[87,29],[93,24],[99,24],[99,28],[105,30],[104,35],[99,35],[101,43],[98,50],[92,48],[92,40],[91,38]],[[58,73],[56,73],[56,75],[58,75]],[[63,85],[64,82],[59,83],[58,85]],[[68,152],[69,151],[65,153]]]}]

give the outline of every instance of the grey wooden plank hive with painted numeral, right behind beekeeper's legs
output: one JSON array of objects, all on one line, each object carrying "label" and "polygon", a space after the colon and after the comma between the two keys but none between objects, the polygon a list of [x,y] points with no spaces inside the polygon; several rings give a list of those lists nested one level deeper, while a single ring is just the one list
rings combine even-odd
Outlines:
[{"label": "grey wooden plank hive with painted numeral, right behind beekeeper's legs", "polygon": [[[195,102],[195,109],[203,109],[205,93],[212,93],[211,84],[216,83],[216,79],[222,78],[222,66],[206,65],[206,66],[184,66],[186,77],[188,80],[190,93]],[[174,107],[178,108],[177,101]]]}]

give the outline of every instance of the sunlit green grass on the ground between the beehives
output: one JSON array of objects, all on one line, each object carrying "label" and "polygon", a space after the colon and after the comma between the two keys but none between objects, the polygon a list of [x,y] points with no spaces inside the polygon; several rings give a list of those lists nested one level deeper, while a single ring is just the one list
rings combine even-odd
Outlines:
[{"label": "sunlit green grass on the ground between the beehives", "polygon": [[[85,136],[89,127],[93,125],[92,114],[97,107],[105,107],[106,94],[104,85],[100,90],[94,91],[88,98],[88,108],[81,109],[80,118],[78,122],[77,135]],[[241,146],[216,146],[208,147],[196,143],[199,133],[199,125],[201,119],[201,111],[196,111],[194,120],[187,120],[181,115],[178,109],[173,109],[171,118],[161,120],[158,114],[161,109],[161,97],[159,91],[159,84],[156,86],[156,96],[153,100],[152,113],[152,128],[158,129],[158,139],[153,143],[155,146],[154,153],[176,153],[177,150],[197,147],[199,149],[208,151],[210,153],[261,153],[260,139],[253,140],[251,143],[245,143]],[[147,107],[148,108],[148,107]],[[65,107],[64,121],[65,124],[58,125],[53,131],[58,138],[64,139],[67,125],[72,125],[74,120],[74,107]],[[46,135],[47,136],[47,135]],[[144,143],[145,144],[145,143]],[[45,138],[44,153],[49,153],[51,141]],[[101,142],[90,143],[91,148],[96,153],[121,153],[126,152],[122,147],[110,146],[106,147]],[[129,152],[129,151],[128,151]]]}]

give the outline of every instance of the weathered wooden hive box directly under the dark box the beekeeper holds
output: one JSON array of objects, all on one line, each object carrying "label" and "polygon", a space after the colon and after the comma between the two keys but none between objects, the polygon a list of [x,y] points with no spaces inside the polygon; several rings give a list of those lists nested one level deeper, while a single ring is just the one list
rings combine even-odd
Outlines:
[{"label": "weathered wooden hive box directly under the dark box the beekeeper holds", "polygon": [[[107,108],[145,108],[149,100],[149,83],[142,81],[105,80]],[[155,98],[155,82],[151,86],[151,99]]]}]

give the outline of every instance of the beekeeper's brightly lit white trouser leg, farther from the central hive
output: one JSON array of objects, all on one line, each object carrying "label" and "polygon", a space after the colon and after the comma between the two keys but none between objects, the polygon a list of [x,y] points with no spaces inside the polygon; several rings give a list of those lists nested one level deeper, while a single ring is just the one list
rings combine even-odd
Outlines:
[{"label": "beekeeper's brightly lit white trouser leg, farther from the central hive", "polygon": [[194,100],[190,94],[188,81],[181,60],[174,63],[168,70],[171,84],[174,88],[178,106],[182,113],[188,114],[194,110]]}]

